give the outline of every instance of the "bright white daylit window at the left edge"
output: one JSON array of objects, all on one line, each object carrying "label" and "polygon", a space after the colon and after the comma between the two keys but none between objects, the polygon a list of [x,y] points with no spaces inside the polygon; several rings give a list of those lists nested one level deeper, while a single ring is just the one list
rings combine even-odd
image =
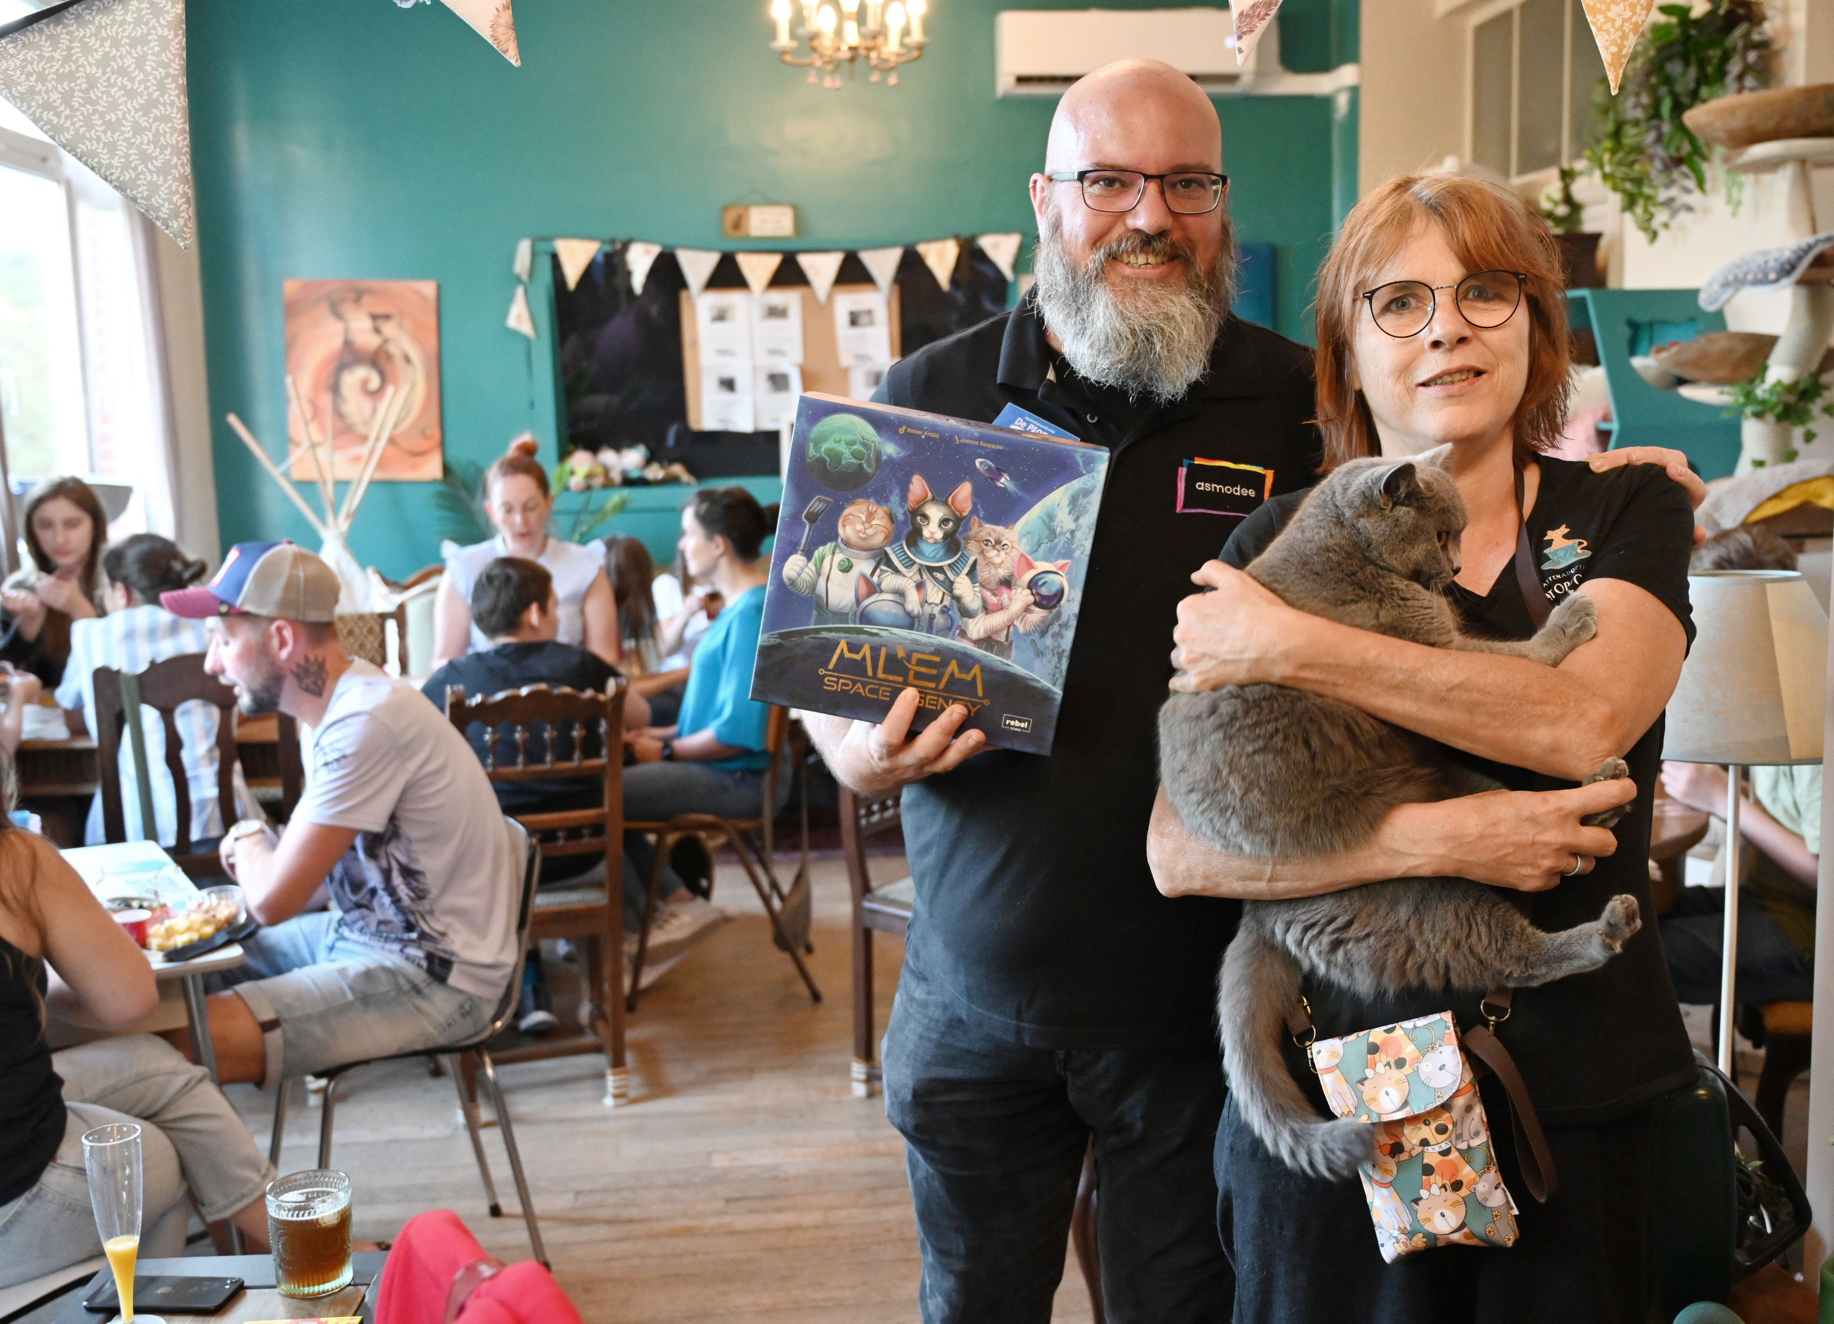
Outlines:
[{"label": "bright white daylit window at the left edge", "polygon": [[[0,20],[6,0],[0,0]],[[149,222],[0,101],[0,438],[15,491],[132,488],[114,537],[171,532]]]}]

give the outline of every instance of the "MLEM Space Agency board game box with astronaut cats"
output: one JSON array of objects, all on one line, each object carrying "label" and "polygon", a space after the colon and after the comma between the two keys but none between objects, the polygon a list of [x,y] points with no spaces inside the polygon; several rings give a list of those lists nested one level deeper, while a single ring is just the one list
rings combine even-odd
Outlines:
[{"label": "MLEM Space Agency board game box with astronaut cats", "polygon": [[1073,438],[801,396],[752,699],[880,721],[910,686],[919,726],[959,702],[1049,754],[1106,477]]}]

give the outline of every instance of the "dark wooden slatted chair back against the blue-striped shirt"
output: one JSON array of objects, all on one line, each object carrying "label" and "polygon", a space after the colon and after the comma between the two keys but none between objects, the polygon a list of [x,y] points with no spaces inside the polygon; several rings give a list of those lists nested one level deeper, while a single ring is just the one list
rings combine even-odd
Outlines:
[{"label": "dark wooden slatted chair back against the blue-striped shirt", "polygon": [[[95,668],[95,779],[103,790],[103,836],[110,842],[127,840],[121,794],[121,741],[127,734],[127,706],[121,702],[121,677],[123,673],[114,668]],[[224,867],[216,851],[193,851],[191,774],[185,770],[185,746],[178,737],[178,708],[193,701],[216,708],[216,807],[222,811],[227,831],[237,822],[235,690],[204,671],[202,653],[183,653],[165,662],[154,662],[134,679],[139,684],[141,704],[158,712],[165,728],[165,768],[172,774],[178,805],[178,836],[171,856],[193,878],[220,875]],[[152,820],[152,805],[141,805],[141,822],[152,829],[149,820]]]}]

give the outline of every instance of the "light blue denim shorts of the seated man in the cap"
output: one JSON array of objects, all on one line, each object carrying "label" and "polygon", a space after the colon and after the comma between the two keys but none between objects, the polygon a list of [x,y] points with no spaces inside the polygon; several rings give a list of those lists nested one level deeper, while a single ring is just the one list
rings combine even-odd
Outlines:
[{"label": "light blue denim shorts of the seated man in the cap", "polygon": [[242,943],[220,976],[260,1021],[262,1084],[402,1053],[464,1043],[490,1029],[495,1001],[337,932],[337,911],[299,915]]}]

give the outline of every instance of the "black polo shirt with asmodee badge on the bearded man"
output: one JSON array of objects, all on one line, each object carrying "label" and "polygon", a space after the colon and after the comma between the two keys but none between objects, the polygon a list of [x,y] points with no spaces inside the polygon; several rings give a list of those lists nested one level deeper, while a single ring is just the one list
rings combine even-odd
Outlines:
[{"label": "black polo shirt with asmodee badge on the bearded man", "polygon": [[1181,468],[1273,471],[1271,484],[1240,468],[1194,471],[1223,475],[1232,491],[1309,486],[1311,352],[1231,319],[1210,374],[1183,400],[1130,405],[1069,374],[1027,299],[895,363],[875,400],[976,422],[1014,403],[1113,455],[1049,757],[990,750],[904,790],[917,878],[906,961],[1020,1043],[1209,1038],[1240,906],[1161,897],[1146,825],[1177,603],[1240,523],[1192,504],[1242,497],[1203,497]]}]

